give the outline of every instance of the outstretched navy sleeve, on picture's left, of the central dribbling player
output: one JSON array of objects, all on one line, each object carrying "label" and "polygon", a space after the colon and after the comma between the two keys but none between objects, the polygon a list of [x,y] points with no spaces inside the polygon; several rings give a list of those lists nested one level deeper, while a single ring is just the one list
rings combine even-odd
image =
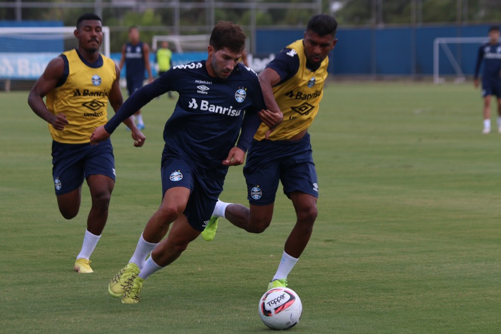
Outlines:
[{"label": "outstretched navy sleeve, on picture's left, of the central dribbling player", "polygon": [[155,81],[136,90],[124,104],[117,110],[115,115],[104,125],[104,129],[108,133],[113,133],[115,129],[127,118],[134,115],[137,110],[141,109],[148,102],[163,93],[176,90],[174,83],[177,82],[180,76],[180,71],[170,69],[162,74]]}]

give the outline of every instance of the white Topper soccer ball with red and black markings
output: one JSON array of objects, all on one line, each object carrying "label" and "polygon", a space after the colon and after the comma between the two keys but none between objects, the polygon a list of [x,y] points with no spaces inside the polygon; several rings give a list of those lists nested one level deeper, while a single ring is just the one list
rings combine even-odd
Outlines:
[{"label": "white Topper soccer ball with red and black markings", "polygon": [[259,316],[271,329],[289,329],[297,325],[301,313],[301,299],[289,288],[270,289],[259,301]]}]

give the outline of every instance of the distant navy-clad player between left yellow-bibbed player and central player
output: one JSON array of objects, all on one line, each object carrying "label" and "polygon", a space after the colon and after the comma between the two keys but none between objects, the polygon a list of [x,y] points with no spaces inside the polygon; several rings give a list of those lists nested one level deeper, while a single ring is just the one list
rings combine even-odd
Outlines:
[{"label": "distant navy-clad player between left yellow-bibbed player and central player", "polygon": [[[153,81],[150,66],[150,47],[148,43],[140,40],[139,29],[136,26],[129,28],[129,43],[122,46],[122,58],[119,63],[120,70],[122,70],[124,64],[129,96],[137,89],[143,87],[145,69],[148,72],[149,82]],[[138,129],[143,130],[145,128],[141,109],[136,111],[132,119],[137,122]]]}]

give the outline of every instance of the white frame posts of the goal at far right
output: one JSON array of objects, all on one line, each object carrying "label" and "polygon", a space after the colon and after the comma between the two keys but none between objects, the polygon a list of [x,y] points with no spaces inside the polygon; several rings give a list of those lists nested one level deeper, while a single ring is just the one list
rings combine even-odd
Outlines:
[{"label": "white frame posts of the goal at far right", "polygon": [[442,50],[446,54],[446,57],[451,62],[454,71],[456,71],[456,82],[464,82],[466,77],[464,76],[463,71],[461,70],[461,66],[458,64],[456,58],[454,58],[454,54],[449,48],[448,44],[482,44],[487,42],[488,39],[484,37],[438,37],[433,40],[433,82],[435,84],[441,84],[445,81],[444,78],[440,77],[439,72],[439,54],[440,54],[440,46]]}]

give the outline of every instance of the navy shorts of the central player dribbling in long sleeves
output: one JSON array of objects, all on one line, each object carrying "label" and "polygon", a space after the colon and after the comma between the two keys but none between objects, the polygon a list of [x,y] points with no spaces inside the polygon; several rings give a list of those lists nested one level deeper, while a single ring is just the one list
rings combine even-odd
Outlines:
[{"label": "navy shorts of the central player dribbling in long sleeves", "polygon": [[173,187],[185,187],[190,190],[183,213],[193,229],[203,231],[214,211],[225,178],[214,179],[201,175],[201,171],[193,163],[174,156],[162,157],[161,174],[162,198],[165,191]]}]

